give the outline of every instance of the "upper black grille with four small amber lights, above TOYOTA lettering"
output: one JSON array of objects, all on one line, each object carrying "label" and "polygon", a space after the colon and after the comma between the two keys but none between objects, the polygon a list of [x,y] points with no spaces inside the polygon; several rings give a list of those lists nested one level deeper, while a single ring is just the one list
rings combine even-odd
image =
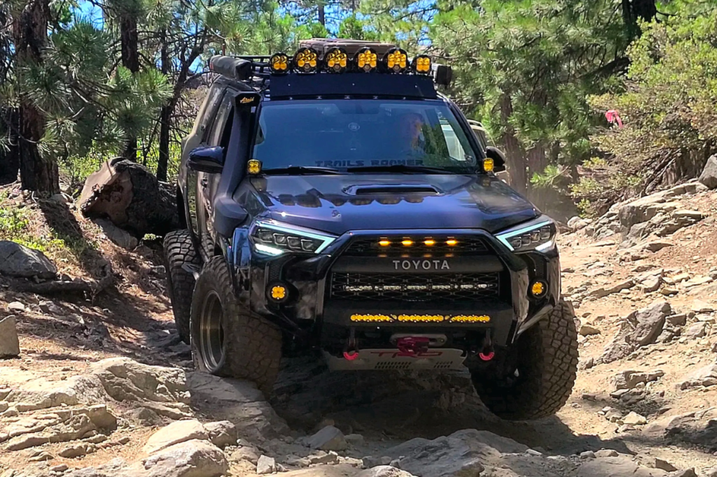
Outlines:
[{"label": "upper black grille with four small amber lights, above TOYOTA lettering", "polygon": [[[381,246],[379,242],[389,241],[388,246]],[[409,240],[410,246],[404,246],[402,241]],[[434,244],[426,245],[426,241]],[[448,245],[448,241],[455,241],[455,245]],[[410,253],[412,256],[455,256],[484,255],[488,253],[483,238],[477,236],[386,236],[375,238],[356,238],[343,251],[343,256],[402,256]]]}]

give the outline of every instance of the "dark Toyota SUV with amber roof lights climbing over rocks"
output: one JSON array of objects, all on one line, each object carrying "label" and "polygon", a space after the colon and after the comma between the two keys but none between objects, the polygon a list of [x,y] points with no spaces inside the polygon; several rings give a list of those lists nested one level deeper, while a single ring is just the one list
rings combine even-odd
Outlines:
[{"label": "dark Toyota SUV with amber roof lights climbing over rocks", "polygon": [[460,370],[493,413],[541,418],[574,383],[556,224],[495,177],[437,92],[451,70],[390,44],[311,40],[212,57],[165,238],[199,369],[270,392],[282,352],[331,370]]}]

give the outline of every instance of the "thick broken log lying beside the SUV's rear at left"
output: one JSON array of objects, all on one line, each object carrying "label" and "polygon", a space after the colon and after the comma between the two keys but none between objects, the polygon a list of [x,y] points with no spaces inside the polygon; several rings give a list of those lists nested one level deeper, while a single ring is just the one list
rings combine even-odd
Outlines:
[{"label": "thick broken log lying beside the SUV's rear at left", "polygon": [[85,217],[106,217],[140,239],[179,228],[174,186],[122,158],[106,161],[87,177],[78,206]]}]

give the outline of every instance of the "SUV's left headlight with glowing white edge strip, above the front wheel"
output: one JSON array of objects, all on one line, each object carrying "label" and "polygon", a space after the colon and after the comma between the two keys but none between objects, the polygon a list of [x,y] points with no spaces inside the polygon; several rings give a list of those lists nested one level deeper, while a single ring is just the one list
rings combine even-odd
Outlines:
[{"label": "SUV's left headlight with glowing white edge strip, above the front wheel", "polygon": [[336,240],[335,236],[277,221],[256,221],[251,238],[256,251],[269,255],[320,254]]}]

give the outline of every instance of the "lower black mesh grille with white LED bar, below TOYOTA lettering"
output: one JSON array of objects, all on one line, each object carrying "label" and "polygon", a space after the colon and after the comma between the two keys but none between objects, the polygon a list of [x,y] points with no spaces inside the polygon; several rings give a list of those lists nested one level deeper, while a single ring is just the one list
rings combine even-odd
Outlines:
[{"label": "lower black mesh grille with white LED bar, below TOYOTA lettering", "polygon": [[500,293],[498,273],[359,274],[334,273],[331,297],[348,300],[453,302],[489,299]]}]

